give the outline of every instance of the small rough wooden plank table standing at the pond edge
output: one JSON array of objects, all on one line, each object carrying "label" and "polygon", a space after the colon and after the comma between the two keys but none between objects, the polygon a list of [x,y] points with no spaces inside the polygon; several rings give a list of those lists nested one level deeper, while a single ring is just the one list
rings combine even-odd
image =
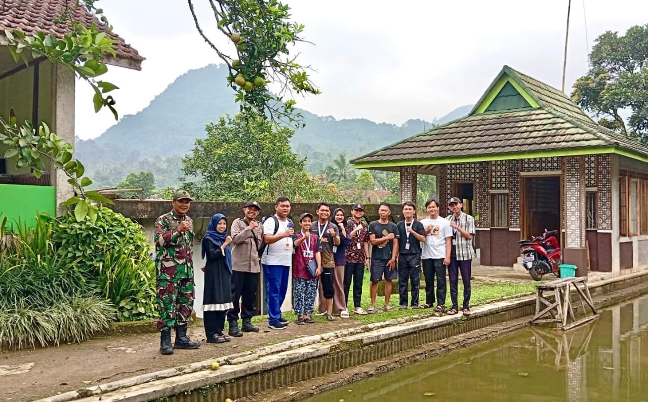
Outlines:
[{"label": "small rough wooden plank table standing at the pond edge", "polygon": [[[544,292],[553,292],[553,302],[546,298]],[[573,313],[573,295],[578,296],[584,314],[582,317],[576,318]],[[596,320],[598,316],[587,287],[586,276],[562,278],[536,285],[535,315],[531,318],[531,324],[555,322],[561,329],[566,330]]]}]

